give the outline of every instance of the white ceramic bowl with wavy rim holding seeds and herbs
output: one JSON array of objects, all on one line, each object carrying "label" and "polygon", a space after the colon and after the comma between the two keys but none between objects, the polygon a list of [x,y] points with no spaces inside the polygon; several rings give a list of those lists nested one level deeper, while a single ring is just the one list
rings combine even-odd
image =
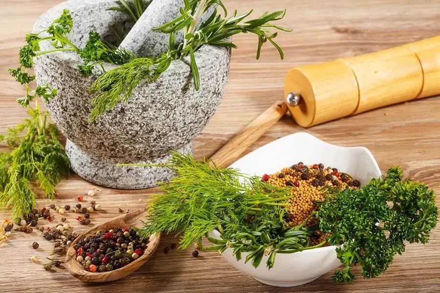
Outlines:
[{"label": "white ceramic bowl with wavy rim holding seeds and herbs", "polygon": [[[306,165],[322,163],[326,167],[338,168],[359,180],[361,185],[381,176],[379,166],[367,148],[330,145],[305,132],[291,134],[260,147],[231,167],[248,175],[262,176],[300,161]],[[209,234],[220,238],[217,230],[212,230]],[[243,253],[242,260],[237,261],[232,255],[232,249],[227,249],[222,256],[241,272],[264,284],[279,287],[306,284],[341,265],[336,257],[335,246],[278,254],[275,265],[270,270],[265,265],[268,256],[264,256],[261,265],[254,268],[250,261],[244,263],[247,254]]]}]

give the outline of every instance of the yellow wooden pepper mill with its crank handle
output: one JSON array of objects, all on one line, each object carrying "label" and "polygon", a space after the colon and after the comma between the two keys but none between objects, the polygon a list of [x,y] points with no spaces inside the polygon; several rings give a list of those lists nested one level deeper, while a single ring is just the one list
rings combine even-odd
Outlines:
[{"label": "yellow wooden pepper mill with its crank handle", "polygon": [[286,76],[286,103],[278,101],[211,159],[232,164],[290,111],[303,127],[386,105],[440,94],[440,36],[366,55],[294,67]]}]

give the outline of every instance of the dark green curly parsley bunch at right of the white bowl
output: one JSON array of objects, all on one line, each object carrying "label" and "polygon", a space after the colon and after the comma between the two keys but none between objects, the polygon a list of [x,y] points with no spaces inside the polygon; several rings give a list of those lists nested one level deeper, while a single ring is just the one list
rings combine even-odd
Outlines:
[{"label": "dark green curly parsley bunch at right of the white bowl", "polygon": [[333,234],[330,244],[343,244],[336,251],[345,268],[335,272],[334,281],[352,281],[356,264],[364,278],[376,277],[405,251],[404,241],[428,243],[437,225],[436,194],[422,183],[401,179],[400,168],[390,168],[383,180],[373,179],[359,190],[333,190],[322,204],[317,214],[321,229]]}]

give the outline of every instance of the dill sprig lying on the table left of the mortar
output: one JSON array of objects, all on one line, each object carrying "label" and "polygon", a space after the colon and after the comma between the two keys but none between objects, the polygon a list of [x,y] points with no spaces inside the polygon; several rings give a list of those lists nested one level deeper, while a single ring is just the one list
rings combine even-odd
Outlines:
[{"label": "dill sprig lying on the table left of the mortar", "polygon": [[69,172],[69,160],[58,140],[57,128],[47,122],[47,112],[42,112],[38,103],[35,105],[35,109],[28,109],[30,118],[9,128],[8,135],[3,136],[10,151],[0,153],[0,208],[10,207],[15,220],[35,207],[32,183],[38,183],[53,199],[56,185]]}]

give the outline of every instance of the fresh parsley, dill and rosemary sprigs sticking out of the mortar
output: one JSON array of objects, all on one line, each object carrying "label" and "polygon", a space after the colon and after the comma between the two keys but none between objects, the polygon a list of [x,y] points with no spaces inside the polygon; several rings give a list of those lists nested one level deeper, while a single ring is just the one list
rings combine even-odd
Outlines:
[{"label": "fresh parsley, dill and rosemary sprigs sticking out of the mortar", "polygon": [[[142,5],[141,2],[133,2],[135,12],[124,0],[120,1],[122,7],[111,7],[111,9],[128,14],[135,21],[145,9],[145,5]],[[225,17],[218,15],[217,9],[215,9],[212,15],[196,28],[199,18],[212,5],[219,5],[224,10]],[[101,36],[96,32],[89,32],[86,46],[82,49],[78,48],[68,39],[73,21],[69,12],[64,10],[62,15],[53,21],[46,30],[26,35],[27,45],[22,47],[19,53],[20,66],[9,70],[16,81],[26,87],[26,95],[18,99],[17,102],[27,106],[35,97],[40,97],[48,102],[49,99],[56,96],[57,89],[49,89],[48,85],[31,89],[29,83],[35,80],[35,75],[31,75],[28,71],[34,64],[33,58],[57,51],[72,51],[78,54],[83,61],[78,70],[86,77],[91,75],[95,67],[102,72],[102,75],[90,88],[90,92],[97,94],[91,101],[94,108],[90,114],[89,122],[96,120],[118,103],[126,102],[141,81],[152,82],[159,78],[174,60],[189,56],[194,86],[198,90],[200,79],[195,52],[201,46],[208,44],[237,48],[230,41],[230,38],[239,33],[252,33],[258,36],[257,59],[260,57],[261,48],[265,42],[270,42],[279,51],[281,59],[284,58],[282,49],[273,40],[277,33],[271,34],[269,29],[291,31],[270,23],[281,20],[286,11],[266,12],[257,19],[244,21],[252,13],[252,10],[242,15],[237,15],[237,11],[235,11],[232,16],[226,18],[227,11],[221,0],[184,0],[184,7],[180,8],[180,13],[181,16],[156,28],[156,30],[170,35],[167,52],[159,57],[139,58],[124,49],[114,49],[107,42],[103,42]],[[176,33],[181,30],[184,32],[184,42],[176,43]],[[53,49],[41,51],[39,43],[43,41],[50,41]],[[121,66],[106,71],[105,63]]]}]

